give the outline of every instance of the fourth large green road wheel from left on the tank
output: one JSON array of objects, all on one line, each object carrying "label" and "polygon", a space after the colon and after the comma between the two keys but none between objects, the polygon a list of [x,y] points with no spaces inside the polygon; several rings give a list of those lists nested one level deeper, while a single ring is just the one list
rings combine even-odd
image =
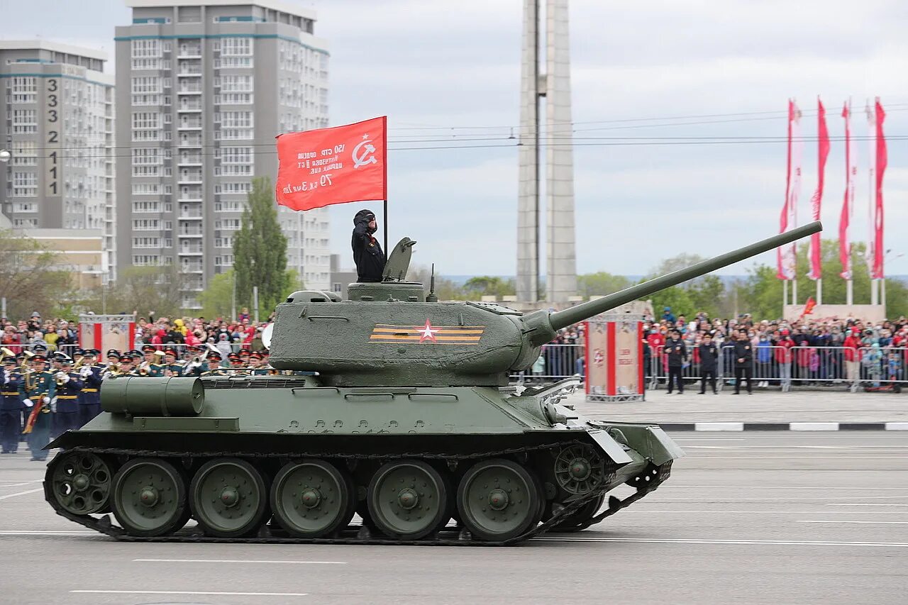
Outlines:
[{"label": "fourth large green road wheel from left on the tank", "polygon": [[375,526],[391,538],[419,540],[450,518],[448,481],[418,460],[388,462],[369,482],[366,501]]}]

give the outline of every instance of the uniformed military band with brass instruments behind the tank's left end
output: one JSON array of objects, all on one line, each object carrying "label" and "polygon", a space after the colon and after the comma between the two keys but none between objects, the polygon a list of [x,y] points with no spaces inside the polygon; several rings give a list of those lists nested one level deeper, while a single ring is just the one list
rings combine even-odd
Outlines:
[{"label": "uniformed military band with brass instruments behind the tank's left end", "polygon": [[[76,349],[46,355],[0,352],[0,445],[3,453],[18,451],[26,441],[33,461],[47,459],[47,445],[65,431],[77,430],[101,413],[101,388],[118,376],[226,377],[268,376],[281,373],[268,364],[268,351],[241,350],[225,356],[212,344],[174,347],[150,344],[142,351]],[[183,359],[181,359],[181,356]],[[48,367],[49,366],[49,367]]]}]

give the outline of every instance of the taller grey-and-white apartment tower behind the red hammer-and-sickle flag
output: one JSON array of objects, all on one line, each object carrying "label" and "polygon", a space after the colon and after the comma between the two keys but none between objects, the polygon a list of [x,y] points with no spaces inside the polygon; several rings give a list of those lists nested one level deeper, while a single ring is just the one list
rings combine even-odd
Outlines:
[{"label": "taller grey-and-white apartment tower behind the red hammer-and-sickle flag", "polygon": [[[176,264],[182,305],[233,263],[255,176],[277,175],[274,137],[328,125],[315,13],[280,0],[126,0],[116,28],[120,267]],[[125,150],[129,153],[125,153]],[[327,209],[279,209],[288,268],[330,286]]]}]

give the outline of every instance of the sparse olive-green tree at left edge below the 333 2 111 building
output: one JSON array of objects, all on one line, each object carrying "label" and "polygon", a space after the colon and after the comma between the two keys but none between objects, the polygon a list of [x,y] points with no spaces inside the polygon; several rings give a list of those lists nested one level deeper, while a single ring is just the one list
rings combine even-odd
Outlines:
[{"label": "sparse olive-green tree at left edge below the 333 2 111 building", "polygon": [[62,314],[65,302],[73,298],[74,287],[72,273],[59,262],[60,255],[37,240],[11,230],[0,231],[0,288],[11,318],[34,311],[44,317]]}]

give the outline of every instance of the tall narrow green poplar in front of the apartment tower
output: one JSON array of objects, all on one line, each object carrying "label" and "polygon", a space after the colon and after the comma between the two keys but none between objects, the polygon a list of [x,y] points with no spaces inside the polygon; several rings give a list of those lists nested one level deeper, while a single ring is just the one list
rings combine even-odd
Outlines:
[{"label": "tall narrow green poplar in front of the apartment tower", "polygon": [[260,310],[271,310],[292,287],[287,273],[287,238],[278,223],[271,179],[252,179],[241,223],[233,237],[237,304],[252,308],[252,286],[258,286]]}]

